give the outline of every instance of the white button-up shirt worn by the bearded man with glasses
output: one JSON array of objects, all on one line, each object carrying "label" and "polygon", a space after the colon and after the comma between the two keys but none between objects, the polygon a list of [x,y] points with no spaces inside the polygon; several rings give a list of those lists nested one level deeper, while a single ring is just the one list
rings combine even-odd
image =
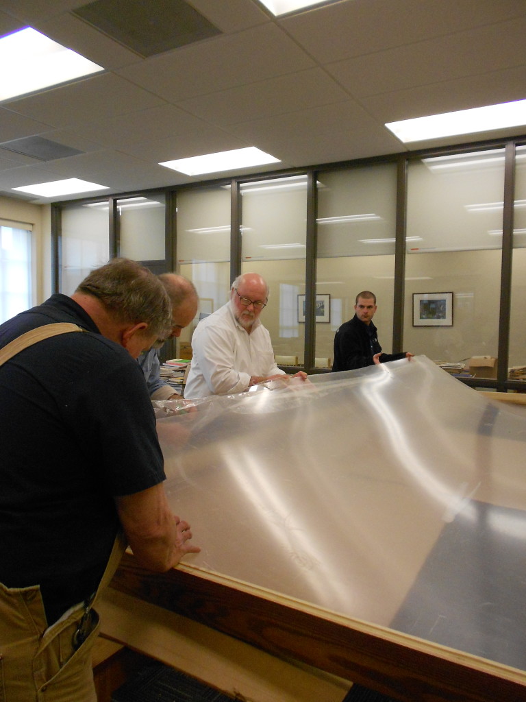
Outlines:
[{"label": "white button-up shirt worn by the bearded man with glasses", "polygon": [[184,397],[243,392],[251,376],[286,375],[276,366],[270,334],[259,322],[250,334],[236,321],[231,303],[201,319],[191,340],[192,359]]}]

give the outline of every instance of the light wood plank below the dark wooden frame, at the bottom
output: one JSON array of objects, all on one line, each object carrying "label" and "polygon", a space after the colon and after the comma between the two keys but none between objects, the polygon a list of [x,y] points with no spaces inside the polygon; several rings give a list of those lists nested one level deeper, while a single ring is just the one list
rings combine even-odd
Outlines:
[{"label": "light wood plank below the dark wooden frame, at the bottom", "polygon": [[250,702],[341,702],[348,680],[282,661],[202,624],[110,588],[100,611],[104,636]]}]

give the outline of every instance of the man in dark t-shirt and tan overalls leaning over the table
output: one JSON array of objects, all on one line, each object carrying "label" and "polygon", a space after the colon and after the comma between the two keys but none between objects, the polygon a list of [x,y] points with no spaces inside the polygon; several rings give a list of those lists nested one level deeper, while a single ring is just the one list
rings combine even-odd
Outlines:
[{"label": "man in dark t-shirt and tan overalls leaning over the table", "polygon": [[171,329],[163,285],[114,259],[71,297],[55,294],[2,324],[0,354],[56,322],[83,331],[40,340],[0,366],[0,656],[15,702],[43,689],[50,701],[95,700],[88,642],[80,645],[93,641],[95,615],[79,621],[120,527],[155,571],[198,551],[166,501],[135,360]]}]

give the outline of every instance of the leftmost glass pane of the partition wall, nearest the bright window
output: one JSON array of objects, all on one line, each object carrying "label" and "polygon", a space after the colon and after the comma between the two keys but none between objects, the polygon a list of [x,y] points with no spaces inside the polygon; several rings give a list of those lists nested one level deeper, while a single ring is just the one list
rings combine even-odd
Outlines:
[{"label": "leftmost glass pane of the partition wall, nearest the bright window", "polygon": [[108,260],[107,201],[63,206],[60,292],[71,295],[91,270]]}]

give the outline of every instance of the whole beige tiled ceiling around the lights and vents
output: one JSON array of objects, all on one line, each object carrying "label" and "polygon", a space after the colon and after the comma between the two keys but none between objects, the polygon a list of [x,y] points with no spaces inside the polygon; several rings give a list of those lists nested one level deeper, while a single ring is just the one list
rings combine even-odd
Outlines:
[{"label": "whole beige tiled ceiling around the lights and vents", "polygon": [[220,178],[157,161],[240,145],[282,159],[280,170],[391,154],[408,147],[386,121],[526,98],[525,0],[341,0],[285,18],[257,0],[188,0],[224,34],[149,59],[72,15],[88,1],[0,1],[0,32],[34,26],[107,70],[2,103],[1,140],[40,135],[85,152],[42,168],[0,149],[4,191],[65,177],[107,180],[107,193]]}]

